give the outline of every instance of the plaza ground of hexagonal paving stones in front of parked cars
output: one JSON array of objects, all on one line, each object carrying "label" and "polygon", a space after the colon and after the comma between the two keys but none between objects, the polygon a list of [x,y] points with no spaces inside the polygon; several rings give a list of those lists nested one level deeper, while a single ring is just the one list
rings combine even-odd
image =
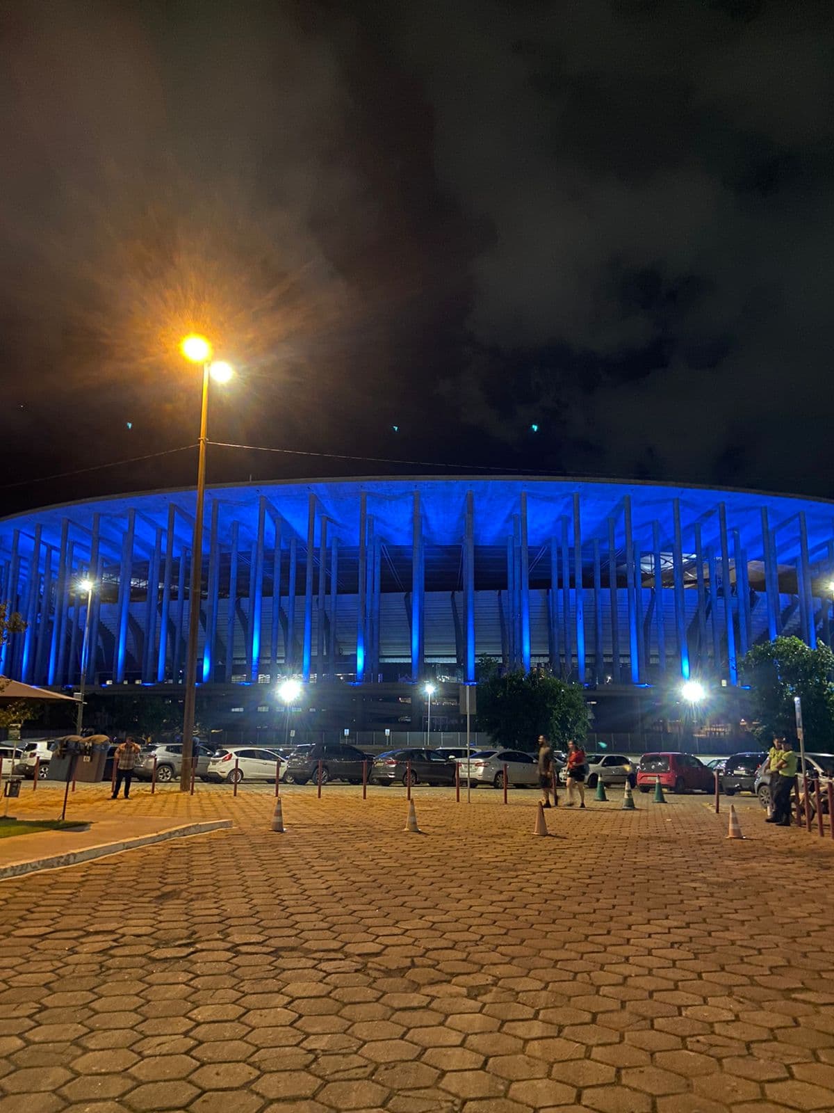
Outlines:
[{"label": "plaza ground of hexagonal paving stones in front of parked cars", "polygon": [[236,827],[0,884],[0,1113],[834,1109],[834,841],[755,801],[102,796]]}]

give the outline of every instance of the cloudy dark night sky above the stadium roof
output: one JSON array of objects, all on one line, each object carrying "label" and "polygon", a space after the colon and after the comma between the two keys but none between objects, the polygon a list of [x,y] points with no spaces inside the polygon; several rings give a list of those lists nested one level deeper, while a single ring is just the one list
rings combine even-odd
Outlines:
[{"label": "cloudy dark night sky above the stadium roof", "polygon": [[0,513],[192,483],[32,482],[192,444],[191,328],[212,440],[420,462],[210,481],[833,495],[833,48],[831,0],[7,0]]}]

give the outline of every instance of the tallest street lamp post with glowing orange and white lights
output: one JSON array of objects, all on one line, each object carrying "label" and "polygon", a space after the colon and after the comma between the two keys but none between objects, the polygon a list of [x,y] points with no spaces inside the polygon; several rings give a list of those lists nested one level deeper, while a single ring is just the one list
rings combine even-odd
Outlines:
[{"label": "tallest street lamp post with glowing orange and white lights", "polygon": [[211,344],[205,336],[190,333],[179,346],[189,363],[202,364],[202,400],[200,404],[200,439],[197,459],[197,508],[193,515],[191,539],[191,579],[188,589],[188,640],[186,643],[185,698],[182,707],[182,771],[179,787],[181,792],[191,788],[191,762],[193,759],[193,720],[197,699],[197,638],[200,629],[200,595],[202,588],[202,514],[206,502],[206,443],[208,439],[209,378],[217,383],[228,383],[234,371],[228,363],[211,363]]}]

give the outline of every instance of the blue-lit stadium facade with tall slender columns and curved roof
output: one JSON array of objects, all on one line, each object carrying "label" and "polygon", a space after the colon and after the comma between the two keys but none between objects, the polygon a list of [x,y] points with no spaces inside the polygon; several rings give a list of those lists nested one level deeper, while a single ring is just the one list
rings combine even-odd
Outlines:
[{"label": "blue-lit stadium facade with tall slender columns and curved roof", "polygon": [[[0,599],[26,619],[0,673],[182,680],[195,492],[0,521]],[[568,479],[211,487],[198,679],[471,680],[476,658],[588,683],[737,682],[755,642],[831,642],[834,504]]]}]

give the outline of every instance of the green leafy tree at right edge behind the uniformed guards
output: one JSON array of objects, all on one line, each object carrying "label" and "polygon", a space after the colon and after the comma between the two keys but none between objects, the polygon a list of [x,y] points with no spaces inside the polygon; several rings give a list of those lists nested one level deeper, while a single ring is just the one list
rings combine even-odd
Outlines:
[{"label": "green leafy tree at right edge behind the uniformed guards", "polygon": [[834,653],[827,646],[811,649],[800,638],[776,638],[755,646],[739,661],[751,686],[754,733],[770,743],[773,735],[796,730],[794,697],[802,699],[805,743],[827,750],[834,740]]}]

